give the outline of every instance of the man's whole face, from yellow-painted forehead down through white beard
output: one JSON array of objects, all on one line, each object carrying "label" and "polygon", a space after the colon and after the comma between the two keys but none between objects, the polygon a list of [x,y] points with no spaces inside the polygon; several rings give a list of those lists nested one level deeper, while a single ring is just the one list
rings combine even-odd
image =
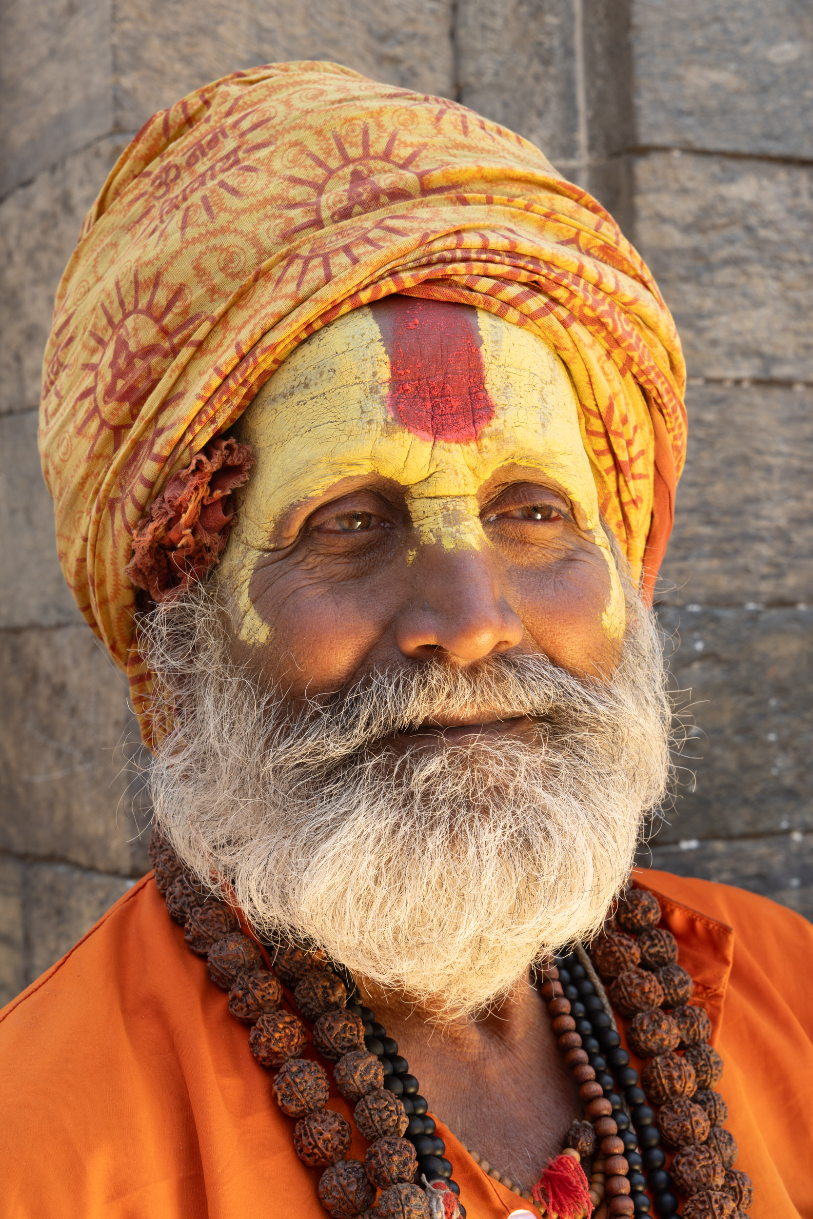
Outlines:
[{"label": "man's whole face, from yellow-painted forehead down through white beard", "polygon": [[302,344],[243,435],[215,595],[144,628],[183,709],[158,824],[266,934],[478,1011],[595,934],[667,774],[568,377],[514,325],[396,297]]}]

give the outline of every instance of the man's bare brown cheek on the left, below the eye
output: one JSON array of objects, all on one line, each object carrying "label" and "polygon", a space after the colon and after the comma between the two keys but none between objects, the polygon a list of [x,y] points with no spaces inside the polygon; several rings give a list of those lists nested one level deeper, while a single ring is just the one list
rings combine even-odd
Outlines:
[{"label": "man's bare brown cheek on the left, below the eye", "polygon": [[391,618],[385,589],[371,595],[369,588],[333,585],[300,569],[261,568],[251,578],[250,597],[271,628],[261,668],[294,695],[344,685]]}]

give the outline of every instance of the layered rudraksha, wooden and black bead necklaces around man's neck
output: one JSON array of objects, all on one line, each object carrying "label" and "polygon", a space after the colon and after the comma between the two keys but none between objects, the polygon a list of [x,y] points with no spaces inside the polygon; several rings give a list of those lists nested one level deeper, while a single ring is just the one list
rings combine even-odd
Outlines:
[{"label": "layered rudraksha, wooden and black bead necklaces around man's neck", "polygon": [[[228,990],[232,1015],[250,1025],[249,1045],[257,1062],[277,1072],[273,1095],[283,1113],[296,1120],[296,1153],[304,1163],[324,1168],[318,1184],[324,1209],[335,1219],[353,1215],[363,1219],[466,1219],[452,1165],[436,1135],[434,1119],[428,1114],[428,1103],[419,1095],[418,1080],[399,1054],[397,1043],[386,1036],[374,1013],[360,1002],[350,974],[321,952],[297,947],[275,950],[269,945],[266,947],[274,952],[274,958],[273,969],[267,968],[261,947],[240,931],[234,912],[212,900],[156,834],[150,842],[150,859],[156,885],[169,914],[184,928],[186,945],[207,958],[212,981]],[[573,1123],[562,1154],[549,1163],[531,1191],[523,1190],[469,1150],[483,1171],[525,1201],[533,1201],[544,1219],[584,1219],[595,1208],[598,1208],[596,1219],[648,1213],[650,1201],[644,1192],[647,1180],[640,1171],[645,1157],[657,1213],[664,1219],[676,1214],[672,1178],[663,1171],[666,1157],[658,1147],[659,1132],[681,1148],[675,1156],[673,1173],[676,1185],[690,1195],[685,1219],[747,1219],[731,1199],[736,1197],[737,1206],[740,1201],[744,1206],[750,1204],[751,1182],[745,1173],[731,1170],[736,1145],[719,1123],[712,1123],[712,1118],[722,1121],[725,1117],[722,1097],[709,1090],[711,1082],[719,1078],[722,1061],[718,1063],[719,1056],[714,1058],[715,1051],[705,1045],[708,1036],[706,1013],[702,1008],[685,1007],[694,984],[685,970],[674,964],[676,944],[673,948],[670,933],[655,926],[659,917],[661,909],[652,895],[634,890],[618,915],[624,930],[618,931],[617,925],[611,924],[594,950],[598,972],[613,979],[611,997],[623,1014],[633,1018],[629,1032],[633,1048],[641,1052],[645,1043],[651,1047],[652,1039],[658,1036],[662,1040],[670,1037],[674,1046],[685,1046],[683,1057],[670,1048],[657,1053],[647,1050],[655,1057],[645,1068],[644,1084],[651,1097],[662,1104],[658,1126],[653,1124],[655,1113],[639,1086],[637,1073],[629,1067],[629,1054],[620,1048],[620,1036],[598,975],[584,951],[577,950],[568,957],[557,958],[553,967],[538,974],[538,981],[541,979],[540,991],[547,1003],[553,1034],[579,1085],[585,1120]],[[647,931],[659,934],[650,934],[647,939]],[[642,940],[640,946],[633,933]],[[657,965],[658,979],[637,968],[641,961],[647,964],[661,958],[664,963]],[[648,968],[656,967],[648,964]],[[669,998],[679,995],[681,1001],[680,1009],[675,1007],[672,1015],[653,1004],[656,1000],[664,1002],[664,985],[672,986]],[[324,1068],[301,1057],[307,1045],[305,1025],[294,1012],[283,1009],[283,986],[293,991],[293,1006],[312,1023],[313,1047],[334,1064],[339,1092],[355,1106],[356,1126],[371,1143],[363,1164],[346,1158],[351,1126],[343,1114],[325,1107],[329,1080]],[[668,1022],[684,1040],[675,1040]],[[602,1048],[607,1059],[600,1053]],[[675,1067],[675,1062],[680,1065]],[[606,1070],[608,1063],[616,1069],[627,1103],[614,1091],[613,1076]],[[695,1081],[705,1087],[696,1091]],[[695,1095],[691,1102],[683,1101],[689,1106],[684,1113],[680,1103],[690,1084]],[[676,1091],[679,1089],[683,1091]],[[637,1132],[631,1130],[630,1117]],[[712,1129],[717,1134],[709,1134]],[[697,1136],[694,1142],[686,1141],[687,1131]],[[588,1182],[580,1162],[594,1156],[597,1143],[598,1156]]]}]

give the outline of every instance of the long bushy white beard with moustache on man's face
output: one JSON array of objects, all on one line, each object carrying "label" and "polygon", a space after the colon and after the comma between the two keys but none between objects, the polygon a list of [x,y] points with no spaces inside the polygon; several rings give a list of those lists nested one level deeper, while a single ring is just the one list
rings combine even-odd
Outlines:
[{"label": "long bushy white beard with moustache on man's face", "polygon": [[[318,945],[440,1019],[483,1009],[596,933],[663,797],[661,649],[651,616],[628,608],[607,684],[540,655],[467,673],[430,661],[293,714],[235,669],[215,596],[194,589],[143,624],[179,708],[151,763],[157,824],[261,934]],[[538,740],[392,747],[457,708],[534,717]]]}]

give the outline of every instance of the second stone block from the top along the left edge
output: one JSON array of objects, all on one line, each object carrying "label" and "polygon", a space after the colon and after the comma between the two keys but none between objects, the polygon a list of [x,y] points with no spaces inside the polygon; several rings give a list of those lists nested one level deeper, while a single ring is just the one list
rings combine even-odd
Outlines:
[{"label": "second stone block from the top along the left edge", "polygon": [[39,402],[54,296],[84,215],[124,144],[123,137],[99,140],[0,204],[0,413]]}]

